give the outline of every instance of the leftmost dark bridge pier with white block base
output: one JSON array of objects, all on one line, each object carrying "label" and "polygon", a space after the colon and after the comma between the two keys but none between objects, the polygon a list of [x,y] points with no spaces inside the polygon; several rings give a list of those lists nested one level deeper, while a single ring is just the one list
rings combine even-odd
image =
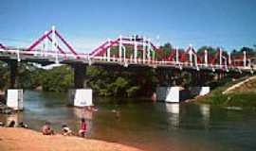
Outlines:
[{"label": "leftmost dark bridge pier with white block base", "polygon": [[12,109],[23,109],[23,90],[20,89],[19,81],[19,62],[9,60],[9,89],[7,91],[7,106]]}]

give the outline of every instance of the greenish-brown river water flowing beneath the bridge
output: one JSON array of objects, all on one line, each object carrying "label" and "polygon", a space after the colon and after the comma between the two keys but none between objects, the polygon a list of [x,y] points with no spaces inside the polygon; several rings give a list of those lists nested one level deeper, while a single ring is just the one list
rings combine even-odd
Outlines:
[{"label": "greenish-brown river water flowing beneath the bridge", "polygon": [[[84,117],[87,138],[132,145],[149,151],[255,151],[255,110],[228,110],[196,104],[94,98],[97,112],[66,106],[64,93],[26,91],[25,110],[0,115],[40,130],[46,121],[56,131],[66,124],[77,131]],[[113,110],[119,110],[119,118]]]}]

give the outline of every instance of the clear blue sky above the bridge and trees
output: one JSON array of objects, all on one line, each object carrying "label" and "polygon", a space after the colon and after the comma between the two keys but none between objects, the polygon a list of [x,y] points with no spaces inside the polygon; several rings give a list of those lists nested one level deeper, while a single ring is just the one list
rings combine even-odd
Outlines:
[{"label": "clear blue sky above the bridge and trees", "polygon": [[51,25],[77,51],[145,35],[178,47],[256,44],[255,0],[1,0],[0,42],[28,46]]}]

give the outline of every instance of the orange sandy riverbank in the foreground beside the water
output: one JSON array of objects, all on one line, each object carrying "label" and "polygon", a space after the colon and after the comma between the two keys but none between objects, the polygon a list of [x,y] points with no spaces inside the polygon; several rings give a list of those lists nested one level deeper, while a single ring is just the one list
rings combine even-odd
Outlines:
[{"label": "orange sandy riverbank in the foreground beside the water", "polygon": [[44,136],[24,128],[0,127],[1,151],[141,151],[119,143],[68,137]]}]

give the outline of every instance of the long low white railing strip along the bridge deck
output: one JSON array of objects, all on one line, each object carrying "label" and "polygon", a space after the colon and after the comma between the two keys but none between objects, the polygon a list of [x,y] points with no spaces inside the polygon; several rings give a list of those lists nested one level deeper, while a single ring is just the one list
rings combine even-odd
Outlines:
[{"label": "long low white railing strip along the bridge deck", "polygon": [[205,64],[205,63],[191,63],[190,61],[169,61],[169,60],[156,60],[156,59],[140,59],[137,58],[136,60],[134,58],[116,58],[116,57],[106,57],[106,56],[95,56],[91,57],[88,54],[77,54],[74,55],[72,53],[56,53],[54,51],[26,51],[24,49],[15,49],[12,47],[3,49],[0,48],[0,52],[2,55],[8,55],[12,59],[17,59],[18,61],[21,61],[24,58],[30,58],[30,59],[51,59],[55,60],[56,57],[60,60],[81,60],[83,62],[89,62],[91,64],[92,62],[101,62],[101,63],[117,63],[117,64],[123,64],[124,66],[129,66],[132,64],[137,65],[148,65],[152,67],[157,66],[166,66],[166,67],[174,67],[174,68],[191,68],[194,70],[200,70],[200,69],[208,69],[212,70],[214,72],[215,70],[223,70],[229,72],[229,70],[236,70],[239,72],[242,71],[251,71],[252,68],[250,66],[233,66],[233,65],[219,65],[219,64]]}]

